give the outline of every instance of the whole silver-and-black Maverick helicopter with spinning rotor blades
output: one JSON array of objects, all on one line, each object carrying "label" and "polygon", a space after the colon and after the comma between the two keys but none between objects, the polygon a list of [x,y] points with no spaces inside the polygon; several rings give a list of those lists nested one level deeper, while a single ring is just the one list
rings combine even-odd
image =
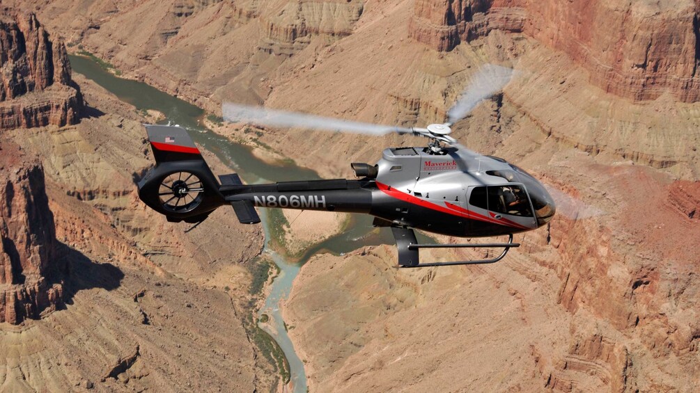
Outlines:
[{"label": "whole silver-and-black Maverick helicopter with spinning rotor blades", "polygon": [[[491,264],[510,248],[513,234],[552,220],[554,199],[529,173],[505,159],[477,152],[452,138],[451,126],[507,84],[512,70],[486,64],[447,112],[447,121],[427,127],[391,127],[302,113],[224,103],[231,122],[304,127],[363,134],[412,134],[421,147],[386,148],[372,165],[353,162],[355,179],[299,180],[246,185],[237,173],[214,176],[188,131],[146,124],[156,165],[139,181],[139,197],[169,222],[200,223],[224,205],[242,224],[256,224],[256,208],[364,213],[374,227],[391,228],[401,267]],[[414,229],[465,238],[507,235],[505,243],[421,244]],[[503,248],[490,259],[421,263],[421,248]]]}]

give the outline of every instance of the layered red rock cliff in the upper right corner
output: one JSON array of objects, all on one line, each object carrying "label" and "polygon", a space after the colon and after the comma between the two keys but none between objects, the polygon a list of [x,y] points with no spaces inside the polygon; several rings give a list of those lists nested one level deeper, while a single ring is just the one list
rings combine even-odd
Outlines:
[{"label": "layered red rock cliff in the upper right corner", "polygon": [[493,29],[521,31],[566,52],[607,92],[647,100],[668,91],[694,102],[699,20],[693,0],[416,0],[409,35],[444,51]]}]

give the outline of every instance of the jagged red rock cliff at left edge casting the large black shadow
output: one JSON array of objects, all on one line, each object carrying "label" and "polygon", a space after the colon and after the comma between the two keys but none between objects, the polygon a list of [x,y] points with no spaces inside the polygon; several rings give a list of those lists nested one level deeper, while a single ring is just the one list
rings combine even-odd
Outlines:
[{"label": "jagged red rock cliff at left edge casting the large black shadow", "polygon": [[48,208],[41,164],[0,143],[0,322],[19,324],[62,305],[50,283],[62,248]]}]

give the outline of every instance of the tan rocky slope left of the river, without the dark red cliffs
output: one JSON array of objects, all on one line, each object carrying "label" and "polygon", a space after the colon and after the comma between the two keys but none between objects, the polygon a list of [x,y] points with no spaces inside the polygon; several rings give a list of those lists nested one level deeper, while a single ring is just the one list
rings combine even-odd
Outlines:
[{"label": "tan rocky slope left of the river, without the dark red cliffs", "polygon": [[[3,133],[41,157],[55,236],[68,249],[66,309],[0,324],[3,389],[271,391],[278,375],[243,324],[260,227],[233,225],[232,209],[218,209],[191,229],[146,207],[134,177],[153,163],[148,120],[74,78],[96,115]],[[216,173],[232,171],[205,155]]]}]

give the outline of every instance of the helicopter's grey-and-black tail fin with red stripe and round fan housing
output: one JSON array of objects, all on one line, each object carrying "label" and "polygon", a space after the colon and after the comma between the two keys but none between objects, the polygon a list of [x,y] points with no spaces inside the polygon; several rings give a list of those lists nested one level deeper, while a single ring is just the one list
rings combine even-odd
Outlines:
[{"label": "helicopter's grey-and-black tail fin with red stripe and round fan housing", "polygon": [[187,131],[146,125],[155,168],[139,182],[139,197],[168,221],[199,222],[225,203],[219,184]]}]

